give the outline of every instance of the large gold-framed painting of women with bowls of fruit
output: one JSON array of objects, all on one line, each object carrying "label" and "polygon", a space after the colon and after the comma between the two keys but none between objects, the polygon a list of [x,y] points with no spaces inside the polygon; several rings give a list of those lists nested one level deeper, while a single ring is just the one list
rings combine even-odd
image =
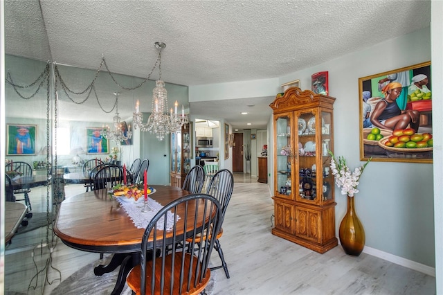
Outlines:
[{"label": "large gold-framed painting of women with bowls of fruit", "polygon": [[433,163],[431,62],[359,78],[360,158]]}]

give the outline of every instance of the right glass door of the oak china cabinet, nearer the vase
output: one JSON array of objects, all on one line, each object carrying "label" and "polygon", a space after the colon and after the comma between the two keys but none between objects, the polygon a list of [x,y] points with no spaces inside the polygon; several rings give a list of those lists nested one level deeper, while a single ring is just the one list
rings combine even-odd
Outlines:
[{"label": "right glass door of the oak china cabinet, nearer the vase", "polygon": [[[316,111],[297,111],[297,148],[298,161],[294,170],[298,191],[296,199],[302,202],[317,203],[318,199],[318,141]],[[321,169],[321,168],[320,168]]]}]

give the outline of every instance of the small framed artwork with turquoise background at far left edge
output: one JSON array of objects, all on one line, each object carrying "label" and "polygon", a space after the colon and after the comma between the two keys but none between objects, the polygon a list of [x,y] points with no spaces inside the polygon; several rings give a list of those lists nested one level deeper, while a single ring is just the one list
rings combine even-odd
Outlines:
[{"label": "small framed artwork with turquoise background at far left edge", "polygon": [[37,125],[7,125],[7,155],[26,156],[35,154]]}]

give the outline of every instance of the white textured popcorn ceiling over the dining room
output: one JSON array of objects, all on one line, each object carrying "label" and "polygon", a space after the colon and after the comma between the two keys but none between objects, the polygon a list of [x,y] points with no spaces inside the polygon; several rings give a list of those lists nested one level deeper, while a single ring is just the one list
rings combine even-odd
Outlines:
[{"label": "white textured popcorn ceiling over the dining room", "polygon": [[6,0],[5,19],[6,53],[87,69],[104,56],[147,78],[161,41],[163,80],[197,85],[276,78],[425,28],[431,1]]}]

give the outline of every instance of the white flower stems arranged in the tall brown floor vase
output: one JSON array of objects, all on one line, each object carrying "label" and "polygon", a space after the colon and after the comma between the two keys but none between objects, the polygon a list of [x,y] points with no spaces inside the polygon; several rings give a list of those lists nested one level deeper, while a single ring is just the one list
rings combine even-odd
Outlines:
[{"label": "white flower stems arranged in the tall brown floor vase", "polygon": [[354,197],[356,193],[359,193],[357,186],[359,185],[359,179],[366,165],[372,160],[372,157],[366,161],[362,166],[355,168],[354,172],[346,165],[344,157],[338,157],[338,161],[335,159],[334,154],[330,150],[327,151],[331,159],[331,170],[334,175],[335,183],[338,188],[341,188],[342,195],[348,195]]}]

